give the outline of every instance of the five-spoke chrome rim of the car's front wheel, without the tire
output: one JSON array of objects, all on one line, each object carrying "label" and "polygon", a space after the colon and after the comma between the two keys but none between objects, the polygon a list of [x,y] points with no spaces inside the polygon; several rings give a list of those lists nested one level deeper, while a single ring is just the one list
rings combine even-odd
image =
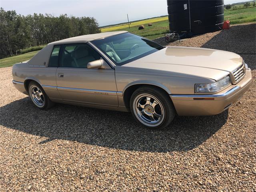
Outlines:
[{"label": "five-spoke chrome rim of the car's front wheel, without the tire", "polygon": [[151,94],[139,94],[134,98],[133,110],[142,124],[156,127],[164,120],[165,112],[162,103]]}]

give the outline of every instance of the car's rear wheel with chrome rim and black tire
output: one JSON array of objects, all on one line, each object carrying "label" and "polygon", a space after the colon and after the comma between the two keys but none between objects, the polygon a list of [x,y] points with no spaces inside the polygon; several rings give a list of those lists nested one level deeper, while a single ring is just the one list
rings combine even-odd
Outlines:
[{"label": "car's rear wheel with chrome rim and black tire", "polygon": [[49,99],[43,88],[37,82],[30,82],[30,84],[28,85],[28,93],[30,99],[37,108],[49,109],[54,106],[54,102]]}]

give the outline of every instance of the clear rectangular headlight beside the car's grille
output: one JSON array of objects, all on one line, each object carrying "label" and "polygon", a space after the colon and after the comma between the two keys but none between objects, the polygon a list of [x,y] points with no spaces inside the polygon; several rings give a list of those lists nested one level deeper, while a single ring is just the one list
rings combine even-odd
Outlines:
[{"label": "clear rectangular headlight beside the car's grille", "polygon": [[203,83],[203,84],[195,84],[195,92],[196,93],[209,93],[209,92],[217,92],[222,90],[224,87],[231,84],[231,80],[229,75],[214,82],[214,83]]}]

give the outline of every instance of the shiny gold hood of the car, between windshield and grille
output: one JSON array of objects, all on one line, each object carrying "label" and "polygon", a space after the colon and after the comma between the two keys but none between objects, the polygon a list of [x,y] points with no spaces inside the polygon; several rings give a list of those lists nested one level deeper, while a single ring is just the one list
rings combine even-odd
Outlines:
[{"label": "shiny gold hood of the car, between windshield and grille", "polygon": [[242,57],[232,52],[168,46],[123,66],[164,70],[219,80],[238,68],[242,62]]}]

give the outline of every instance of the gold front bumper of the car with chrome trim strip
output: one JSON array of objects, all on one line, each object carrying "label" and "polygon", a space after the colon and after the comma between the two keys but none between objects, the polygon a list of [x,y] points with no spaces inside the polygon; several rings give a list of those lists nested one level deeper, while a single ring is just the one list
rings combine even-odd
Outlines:
[{"label": "gold front bumper of the car with chrome trim strip", "polygon": [[228,109],[250,88],[252,74],[246,68],[246,75],[235,85],[217,94],[207,95],[170,95],[176,112],[180,116],[216,115]]}]

